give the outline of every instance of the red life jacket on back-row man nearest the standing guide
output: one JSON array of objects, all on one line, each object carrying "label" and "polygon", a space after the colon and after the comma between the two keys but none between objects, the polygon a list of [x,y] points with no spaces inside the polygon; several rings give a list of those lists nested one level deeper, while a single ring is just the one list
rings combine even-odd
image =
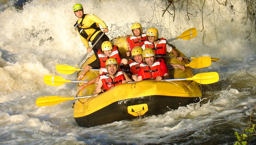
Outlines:
[{"label": "red life jacket on back-row man nearest the standing guide", "polygon": [[147,41],[147,35],[145,33],[141,34],[140,38],[137,38],[136,36],[131,36],[127,38],[127,42],[130,44],[130,50],[132,50],[136,46],[142,46],[144,45],[144,41]]}]

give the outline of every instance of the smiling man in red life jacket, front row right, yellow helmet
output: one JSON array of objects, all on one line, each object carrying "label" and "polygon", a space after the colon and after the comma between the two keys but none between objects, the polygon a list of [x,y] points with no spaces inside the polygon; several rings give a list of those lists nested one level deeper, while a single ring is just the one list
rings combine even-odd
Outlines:
[{"label": "smiling man in red life jacket, front row right, yellow helmet", "polygon": [[166,64],[162,59],[155,61],[153,49],[146,48],[142,51],[144,63],[140,64],[137,81],[155,79],[157,81],[170,79]]}]

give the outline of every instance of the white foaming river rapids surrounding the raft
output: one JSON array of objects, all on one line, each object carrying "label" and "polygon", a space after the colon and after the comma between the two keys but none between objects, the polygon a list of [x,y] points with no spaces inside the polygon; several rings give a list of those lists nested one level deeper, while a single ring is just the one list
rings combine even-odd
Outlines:
[{"label": "white foaming river rapids surrounding the raft", "polygon": [[[30,0],[19,10],[15,2],[0,1],[0,144],[228,145],[237,140],[234,132],[244,129],[256,104],[256,36],[255,20],[245,24],[243,0],[228,1],[226,7],[206,0],[205,31],[201,31],[200,7],[194,7],[197,14],[189,15],[189,21],[184,9],[176,13],[173,22],[168,12],[162,17],[157,5],[160,1]],[[55,69],[57,64],[75,66],[86,53],[73,28],[77,21],[72,12],[75,3],[81,3],[85,13],[93,13],[107,24],[110,39],[131,34],[135,22],[144,32],[158,28],[160,37],[167,39],[197,28],[197,37],[171,43],[188,57],[220,58],[208,68],[195,70],[218,72],[219,82],[202,85],[201,103],[159,116],[92,128],[76,124],[73,101],[37,107],[39,97],[75,96],[75,83],[47,86],[43,81],[44,75],[76,80],[74,74],[60,74]]]}]

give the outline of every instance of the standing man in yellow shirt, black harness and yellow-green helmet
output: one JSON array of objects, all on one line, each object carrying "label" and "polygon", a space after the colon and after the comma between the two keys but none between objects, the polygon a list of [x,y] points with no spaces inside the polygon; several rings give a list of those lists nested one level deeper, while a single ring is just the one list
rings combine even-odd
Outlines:
[{"label": "standing man in yellow shirt, black harness and yellow-green helmet", "polygon": [[[102,35],[102,33],[108,32],[108,28],[104,21],[98,18],[94,14],[84,14],[83,6],[81,4],[75,4],[73,6],[73,11],[75,16],[78,17],[78,21],[75,23],[74,28],[78,30],[79,36],[87,49],[87,52],[91,52],[91,47],[89,47],[89,41],[92,45],[95,41]],[[101,31],[100,24],[104,29]],[[93,48],[96,59],[98,59],[97,51],[101,49],[101,45],[104,41],[109,41],[109,38],[104,34],[98,43]]]}]

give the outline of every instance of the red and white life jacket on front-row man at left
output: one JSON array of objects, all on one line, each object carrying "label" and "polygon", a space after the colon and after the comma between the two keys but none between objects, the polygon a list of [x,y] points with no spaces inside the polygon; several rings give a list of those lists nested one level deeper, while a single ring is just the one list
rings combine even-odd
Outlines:
[{"label": "red and white life jacket on front-row man at left", "polygon": [[123,80],[125,80],[125,76],[123,74],[123,71],[121,69],[119,69],[116,74],[114,75],[114,80],[105,74],[100,75],[100,79],[102,81],[103,84],[103,89],[105,89],[106,91],[109,90],[110,88],[108,87],[112,87],[112,86],[116,86],[122,83]]}]

